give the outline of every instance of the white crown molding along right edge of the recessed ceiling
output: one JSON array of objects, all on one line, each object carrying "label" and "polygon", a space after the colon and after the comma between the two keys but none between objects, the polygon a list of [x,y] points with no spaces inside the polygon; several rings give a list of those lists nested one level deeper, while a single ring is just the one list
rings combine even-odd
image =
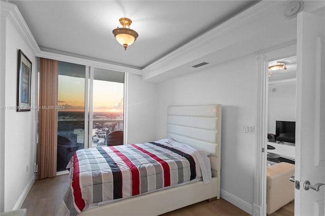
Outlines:
[{"label": "white crown molding along right edge of the recessed ceiling", "polygon": [[[184,46],[143,68],[143,80],[149,80],[155,76],[165,73],[166,71],[233,46],[236,43],[236,40],[226,40],[226,42],[224,42],[224,39],[228,38],[229,32],[231,32],[233,29],[245,26],[246,23],[258,20],[258,17],[262,16],[268,11],[283,8],[285,4],[285,1],[258,2],[245,11],[233,16],[232,18],[202,34],[200,37],[190,41]],[[232,35],[232,37],[237,36],[238,35]],[[250,35],[243,34],[241,37],[245,39],[250,37]]]}]

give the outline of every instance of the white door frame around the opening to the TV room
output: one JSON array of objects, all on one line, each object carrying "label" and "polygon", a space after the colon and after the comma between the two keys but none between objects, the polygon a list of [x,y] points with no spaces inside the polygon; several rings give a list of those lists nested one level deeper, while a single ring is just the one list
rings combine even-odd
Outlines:
[{"label": "white door frame around the opening to the TV room", "polygon": [[254,173],[253,216],[266,215],[266,146],[268,129],[268,74],[269,61],[297,55],[296,42],[256,56],[257,104],[256,104],[256,167]]}]

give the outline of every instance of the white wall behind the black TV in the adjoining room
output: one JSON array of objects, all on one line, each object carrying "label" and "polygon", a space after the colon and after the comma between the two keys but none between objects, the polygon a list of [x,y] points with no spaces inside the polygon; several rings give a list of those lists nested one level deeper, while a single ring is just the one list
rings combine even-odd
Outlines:
[{"label": "white wall behind the black TV in the adjoining room", "polygon": [[269,86],[268,133],[275,134],[275,121],[296,121],[296,84]]}]

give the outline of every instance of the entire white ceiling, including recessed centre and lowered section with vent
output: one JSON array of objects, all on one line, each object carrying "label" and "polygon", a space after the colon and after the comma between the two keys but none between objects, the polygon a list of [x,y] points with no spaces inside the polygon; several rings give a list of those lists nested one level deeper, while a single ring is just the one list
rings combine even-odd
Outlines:
[{"label": "entire white ceiling, including recessed centre and lowered section with vent", "polygon": [[[37,56],[138,74],[153,83],[297,40],[297,17],[284,16],[291,1],[7,2],[17,5]],[[323,14],[324,3],[304,1],[303,10]],[[112,33],[121,17],[132,19],[130,27],[139,33],[126,51]],[[203,61],[209,64],[192,67]],[[290,71],[269,81],[295,78]]]}]

